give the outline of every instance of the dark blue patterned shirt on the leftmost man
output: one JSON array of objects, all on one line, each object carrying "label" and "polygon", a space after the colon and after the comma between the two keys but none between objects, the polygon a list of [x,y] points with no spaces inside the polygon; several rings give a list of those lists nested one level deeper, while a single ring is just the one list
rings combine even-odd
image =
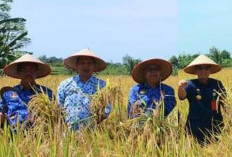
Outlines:
[{"label": "dark blue patterned shirt on the leftmost man", "polygon": [[52,90],[41,85],[35,85],[34,89],[26,90],[22,85],[14,87],[14,91],[8,91],[3,94],[4,98],[0,100],[0,112],[6,114],[9,125],[17,123],[17,116],[19,116],[20,123],[24,122],[29,114],[27,104],[38,93],[46,93],[52,99]]}]

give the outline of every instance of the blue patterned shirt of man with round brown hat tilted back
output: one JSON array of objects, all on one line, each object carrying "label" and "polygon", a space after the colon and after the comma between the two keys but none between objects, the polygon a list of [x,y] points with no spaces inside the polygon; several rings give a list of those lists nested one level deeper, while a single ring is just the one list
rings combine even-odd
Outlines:
[{"label": "blue patterned shirt of man with round brown hat tilted back", "polygon": [[156,103],[161,101],[161,95],[164,96],[164,115],[167,116],[176,105],[175,94],[172,87],[162,83],[155,88],[152,88],[146,83],[133,86],[130,91],[127,107],[128,117],[135,117],[132,113],[132,109],[136,102],[141,105],[140,107],[143,106],[145,111],[149,112],[151,109],[156,109]]}]

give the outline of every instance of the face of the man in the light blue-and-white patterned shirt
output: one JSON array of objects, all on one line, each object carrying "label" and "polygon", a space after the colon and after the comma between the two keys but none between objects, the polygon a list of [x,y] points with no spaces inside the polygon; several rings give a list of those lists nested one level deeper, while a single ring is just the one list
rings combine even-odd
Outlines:
[{"label": "face of the man in the light blue-and-white patterned shirt", "polygon": [[77,72],[81,76],[91,76],[94,73],[94,59],[89,57],[81,57],[78,59],[77,63]]}]

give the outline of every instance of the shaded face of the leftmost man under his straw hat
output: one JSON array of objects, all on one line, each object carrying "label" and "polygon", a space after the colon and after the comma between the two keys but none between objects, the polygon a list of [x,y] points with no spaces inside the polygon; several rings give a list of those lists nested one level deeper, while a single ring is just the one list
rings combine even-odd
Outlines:
[{"label": "shaded face of the leftmost man under his straw hat", "polygon": [[25,63],[18,71],[24,82],[34,82],[36,79],[36,64],[33,63]]}]

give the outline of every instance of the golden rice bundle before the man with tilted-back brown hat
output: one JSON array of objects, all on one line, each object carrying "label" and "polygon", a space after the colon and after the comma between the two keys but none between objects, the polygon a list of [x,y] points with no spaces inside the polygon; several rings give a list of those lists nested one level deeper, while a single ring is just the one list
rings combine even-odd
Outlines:
[{"label": "golden rice bundle before the man with tilted-back brown hat", "polygon": [[129,139],[134,143],[138,137],[141,137],[144,141],[149,141],[152,137],[157,143],[165,140],[173,130],[178,129],[171,124],[164,116],[164,103],[163,101],[154,102],[156,109],[151,114],[142,113],[140,116],[128,119],[124,123],[121,123],[120,127],[123,130],[129,132]]}]

